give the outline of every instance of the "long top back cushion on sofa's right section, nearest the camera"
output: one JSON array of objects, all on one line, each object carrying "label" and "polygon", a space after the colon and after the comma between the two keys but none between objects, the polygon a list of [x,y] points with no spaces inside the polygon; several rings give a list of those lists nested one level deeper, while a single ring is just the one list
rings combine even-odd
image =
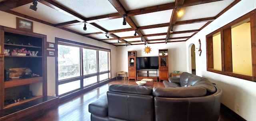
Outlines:
[{"label": "long top back cushion on sofa's right section, nearest the camera", "polygon": [[203,87],[154,87],[156,97],[200,97],[206,95]]}]

